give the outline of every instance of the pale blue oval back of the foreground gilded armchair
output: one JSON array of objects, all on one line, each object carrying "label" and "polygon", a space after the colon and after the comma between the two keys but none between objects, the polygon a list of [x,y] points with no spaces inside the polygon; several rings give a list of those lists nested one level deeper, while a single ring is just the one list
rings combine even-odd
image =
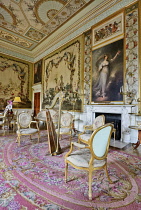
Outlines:
[{"label": "pale blue oval back of the foreground gilded armchair", "polygon": [[96,159],[104,159],[107,156],[111,140],[113,125],[107,123],[97,130],[91,136],[91,148]]}]

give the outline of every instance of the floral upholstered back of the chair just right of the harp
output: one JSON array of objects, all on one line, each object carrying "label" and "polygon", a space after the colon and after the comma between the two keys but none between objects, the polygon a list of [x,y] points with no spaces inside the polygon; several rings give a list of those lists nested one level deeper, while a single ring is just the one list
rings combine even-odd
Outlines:
[{"label": "floral upholstered back of the chair just right of the harp", "polygon": [[73,115],[70,113],[63,113],[61,115],[61,127],[70,127],[73,123]]}]

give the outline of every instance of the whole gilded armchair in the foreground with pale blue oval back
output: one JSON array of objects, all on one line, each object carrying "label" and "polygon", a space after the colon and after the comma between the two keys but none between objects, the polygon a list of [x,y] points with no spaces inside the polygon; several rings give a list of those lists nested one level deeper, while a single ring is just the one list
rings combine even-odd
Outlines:
[{"label": "whole gilded armchair in the foreground with pale blue oval back", "polygon": [[[67,182],[68,164],[72,167],[88,172],[88,196],[92,200],[92,173],[95,170],[105,169],[108,181],[113,183],[107,171],[107,155],[111,140],[113,125],[105,124],[97,128],[90,137],[89,144],[71,142],[70,151],[65,155],[65,181]],[[79,148],[74,150],[74,148]],[[96,173],[95,173],[96,175]]]}]

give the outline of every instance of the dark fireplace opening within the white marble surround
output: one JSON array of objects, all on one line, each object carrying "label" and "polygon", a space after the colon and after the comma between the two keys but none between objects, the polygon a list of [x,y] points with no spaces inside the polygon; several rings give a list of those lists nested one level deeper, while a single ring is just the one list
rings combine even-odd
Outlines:
[{"label": "dark fireplace opening within the white marble surround", "polygon": [[[115,113],[101,113],[96,112],[95,117],[98,117],[99,115],[105,116],[105,123],[113,123],[114,128],[116,129],[116,135],[115,140],[121,139],[121,114],[115,114]],[[112,134],[112,138],[114,134]]]}]

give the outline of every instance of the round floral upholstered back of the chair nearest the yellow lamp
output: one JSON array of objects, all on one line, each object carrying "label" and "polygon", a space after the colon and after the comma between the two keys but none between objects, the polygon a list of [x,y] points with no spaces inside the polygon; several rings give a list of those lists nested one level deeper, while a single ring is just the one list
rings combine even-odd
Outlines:
[{"label": "round floral upholstered back of the chair nearest the yellow lamp", "polygon": [[32,120],[32,116],[31,114],[27,113],[27,112],[21,112],[18,115],[18,125],[21,128],[28,128],[30,126],[31,120]]}]

